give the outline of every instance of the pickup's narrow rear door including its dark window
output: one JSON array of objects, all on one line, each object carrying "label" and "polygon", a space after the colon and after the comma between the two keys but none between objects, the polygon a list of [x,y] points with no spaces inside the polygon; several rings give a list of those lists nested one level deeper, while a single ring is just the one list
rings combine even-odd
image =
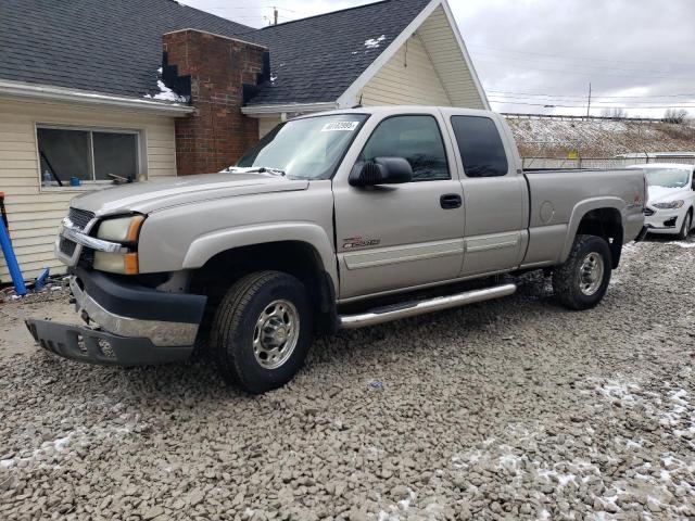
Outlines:
[{"label": "pickup's narrow rear door including its dark window", "polygon": [[505,128],[481,113],[445,111],[457,144],[466,228],[462,277],[515,268],[527,243],[528,189]]}]

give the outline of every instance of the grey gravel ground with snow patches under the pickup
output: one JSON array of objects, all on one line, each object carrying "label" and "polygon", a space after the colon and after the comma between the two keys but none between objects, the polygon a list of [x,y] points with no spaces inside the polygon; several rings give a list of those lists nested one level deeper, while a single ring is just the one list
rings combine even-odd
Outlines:
[{"label": "grey gravel ground with snow patches under the pickup", "polygon": [[594,310],[530,277],[260,397],[9,348],[66,296],[0,305],[0,519],[692,519],[694,281],[695,242],[630,245]]}]

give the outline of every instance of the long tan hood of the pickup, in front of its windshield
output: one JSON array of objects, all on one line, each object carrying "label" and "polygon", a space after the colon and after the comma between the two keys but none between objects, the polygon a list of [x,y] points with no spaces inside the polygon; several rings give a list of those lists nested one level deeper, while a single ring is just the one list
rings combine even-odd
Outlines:
[{"label": "long tan hood of the pickup, in front of its windshield", "polygon": [[306,180],[291,180],[269,174],[205,174],[97,190],[73,199],[71,205],[92,212],[98,217],[125,212],[148,214],[169,206],[213,199],[307,188]]}]

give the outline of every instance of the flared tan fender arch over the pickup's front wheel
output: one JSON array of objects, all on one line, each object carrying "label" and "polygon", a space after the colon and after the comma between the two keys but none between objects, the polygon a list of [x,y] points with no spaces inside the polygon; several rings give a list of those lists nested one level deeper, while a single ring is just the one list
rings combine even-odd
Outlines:
[{"label": "flared tan fender arch over the pickup's front wheel", "polygon": [[235,247],[281,241],[304,242],[313,246],[321,259],[324,269],[330,275],[336,288],[338,287],[332,242],[320,226],[311,223],[264,223],[215,230],[191,242],[184,257],[182,268],[200,268],[215,255]]}]

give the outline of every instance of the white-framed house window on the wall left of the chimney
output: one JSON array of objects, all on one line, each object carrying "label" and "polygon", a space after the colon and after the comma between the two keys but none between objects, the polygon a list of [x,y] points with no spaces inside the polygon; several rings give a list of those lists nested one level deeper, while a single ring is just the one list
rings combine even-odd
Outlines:
[{"label": "white-framed house window on the wall left of the chimney", "polygon": [[36,134],[45,186],[60,179],[67,187],[73,177],[81,182],[138,178],[137,131],[39,126]]}]

